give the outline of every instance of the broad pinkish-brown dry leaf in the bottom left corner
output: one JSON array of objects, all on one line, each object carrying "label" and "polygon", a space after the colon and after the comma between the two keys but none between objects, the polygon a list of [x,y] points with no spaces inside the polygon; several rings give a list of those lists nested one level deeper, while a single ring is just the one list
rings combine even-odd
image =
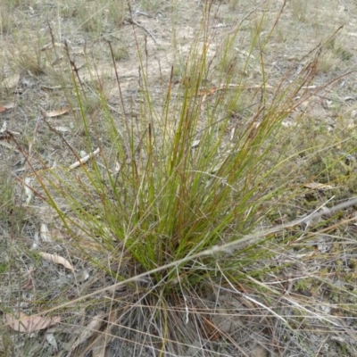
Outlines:
[{"label": "broad pinkish-brown dry leaf in the bottom left corner", "polygon": [[28,316],[20,312],[19,319],[16,319],[10,314],[5,314],[5,320],[10,328],[19,332],[33,332],[40,329],[48,328],[56,323],[61,322],[60,316],[46,318],[38,315]]}]

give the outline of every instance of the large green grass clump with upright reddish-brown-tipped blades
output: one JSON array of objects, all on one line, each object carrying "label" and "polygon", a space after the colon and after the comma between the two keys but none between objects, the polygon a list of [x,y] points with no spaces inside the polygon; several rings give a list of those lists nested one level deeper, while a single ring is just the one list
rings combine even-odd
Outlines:
[{"label": "large green grass clump with upright reddish-brown-tipped blades", "polygon": [[[104,118],[96,130],[110,143],[110,150],[95,139],[82,115],[87,152],[98,145],[100,158],[82,165],[80,173],[64,170],[62,177],[63,169],[48,170],[41,178],[48,178],[44,187],[55,182],[56,194],[51,197],[60,195],[69,204],[71,214],[64,214],[54,198],[50,201],[73,239],[76,229],[85,232],[100,250],[113,252],[113,260],[136,274],[239,240],[256,228],[270,210],[265,203],[282,188],[273,179],[279,158],[271,157],[270,151],[281,121],[294,108],[293,98],[311,80],[311,72],[292,85],[281,83],[270,99],[262,78],[262,86],[253,89],[255,101],[262,93],[253,116],[232,125],[230,108],[244,95],[244,79],[234,85],[229,73],[221,71],[215,93],[205,98],[212,90],[206,79],[214,73],[207,48],[199,48],[198,43],[192,47],[179,87],[174,87],[172,76],[169,79],[161,108],[154,105],[141,67],[140,120],[120,97],[118,123],[103,97]],[[77,95],[83,110],[79,87]],[[101,255],[89,253],[87,259],[101,269],[107,267]],[[224,262],[231,272],[241,265],[237,256]],[[152,294],[176,295],[182,286],[198,286],[216,275],[216,264],[210,257],[158,271],[152,277]],[[129,277],[128,271],[116,273],[120,279]]]}]

